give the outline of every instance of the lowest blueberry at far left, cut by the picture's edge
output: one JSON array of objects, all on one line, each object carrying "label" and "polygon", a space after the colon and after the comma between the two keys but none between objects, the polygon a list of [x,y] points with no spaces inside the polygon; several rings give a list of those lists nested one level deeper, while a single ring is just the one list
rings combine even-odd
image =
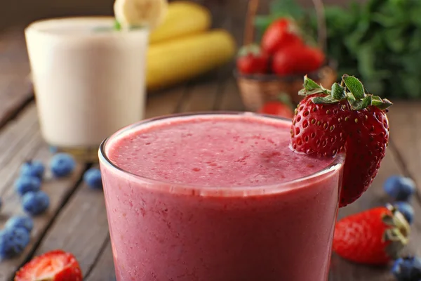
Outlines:
[{"label": "lowest blueberry at far left, cut by the picture's edge", "polygon": [[0,231],[0,257],[18,256],[29,244],[29,233],[23,228],[4,228]]}]

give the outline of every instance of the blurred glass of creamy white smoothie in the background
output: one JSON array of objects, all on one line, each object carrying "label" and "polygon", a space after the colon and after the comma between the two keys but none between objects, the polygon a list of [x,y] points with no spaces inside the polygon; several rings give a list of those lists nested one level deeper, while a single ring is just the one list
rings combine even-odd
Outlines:
[{"label": "blurred glass of creamy white smoothie in the background", "polygon": [[88,161],[107,136],[144,117],[149,29],[114,24],[57,18],[25,30],[42,135]]}]

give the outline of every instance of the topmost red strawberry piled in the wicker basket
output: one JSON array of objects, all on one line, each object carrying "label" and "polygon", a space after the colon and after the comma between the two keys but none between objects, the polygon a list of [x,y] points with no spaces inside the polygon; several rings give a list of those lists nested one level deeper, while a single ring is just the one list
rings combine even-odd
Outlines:
[{"label": "topmost red strawberry piled in the wicker basket", "polygon": [[286,46],[302,45],[298,27],[288,18],[275,20],[263,34],[261,46],[263,51],[273,55]]}]

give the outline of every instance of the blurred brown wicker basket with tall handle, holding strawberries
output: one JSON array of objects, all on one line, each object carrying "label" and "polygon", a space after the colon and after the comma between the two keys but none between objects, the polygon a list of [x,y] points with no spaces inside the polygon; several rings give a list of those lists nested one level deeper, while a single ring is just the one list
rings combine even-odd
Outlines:
[{"label": "blurred brown wicker basket with tall handle, holding strawberries", "polygon": [[[323,3],[321,0],[313,0],[318,15],[318,44],[325,50],[326,46],[326,25],[324,22]],[[248,2],[248,15],[246,17],[246,28],[244,32],[244,45],[253,43],[253,21],[258,10],[259,0]],[[326,89],[330,89],[337,79],[337,65],[329,60],[319,70],[307,73],[308,77],[320,83]],[[276,99],[280,93],[286,93],[294,103],[299,103],[302,96],[298,91],[302,89],[303,77],[306,73],[279,77],[275,74],[240,74],[234,70],[237,84],[241,93],[246,110],[257,111],[264,103]]]}]

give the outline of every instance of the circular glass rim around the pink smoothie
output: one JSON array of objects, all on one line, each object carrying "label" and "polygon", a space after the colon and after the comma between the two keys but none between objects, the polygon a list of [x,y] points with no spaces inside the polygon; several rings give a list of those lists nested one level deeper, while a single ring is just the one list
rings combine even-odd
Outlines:
[{"label": "circular glass rim around the pink smoothie", "polygon": [[[140,122],[136,122],[134,124],[128,125],[120,129],[119,131],[116,131],[111,136],[105,138],[104,141],[100,144],[100,148],[98,150],[98,157],[100,160],[100,164],[104,164],[107,166],[108,169],[111,169],[112,171],[116,171],[117,173],[122,173],[129,178],[133,179],[133,181],[140,181],[141,183],[152,185],[153,190],[159,190],[165,186],[165,188],[162,188],[162,190],[167,190],[168,187],[171,187],[171,192],[173,193],[186,193],[189,195],[206,195],[206,196],[218,196],[221,195],[230,197],[230,196],[245,196],[245,195],[268,195],[273,194],[277,192],[283,192],[283,190],[290,190],[290,188],[286,188],[288,186],[291,187],[297,187],[300,186],[300,183],[305,183],[307,181],[311,181],[316,178],[324,178],[323,176],[329,176],[330,174],[333,174],[333,172],[338,171],[342,168],[343,164],[345,163],[345,152],[339,152],[334,157],[332,157],[332,162],[328,164],[327,166],[324,166],[323,169],[320,169],[319,171],[315,171],[312,174],[309,174],[307,176],[302,176],[300,178],[294,178],[290,181],[283,181],[281,183],[271,183],[271,184],[262,184],[262,185],[242,185],[242,186],[234,186],[234,187],[220,187],[220,186],[207,186],[207,185],[192,185],[192,184],[184,184],[184,183],[173,183],[171,181],[161,181],[156,180],[153,178],[147,178],[145,176],[140,176],[137,174],[133,174],[130,171],[126,171],[125,169],[122,169],[117,164],[114,164],[111,159],[107,156],[106,146],[107,143],[112,140],[113,138],[116,138],[121,133],[126,133],[128,131],[131,131],[133,129],[136,129],[140,126],[143,126],[145,124],[150,124],[153,122],[160,122],[166,119],[173,119],[177,117],[194,117],[194,116],[213,116],[213,115],[229,115],[229,116],[252,116],[252,117],[258,117],[262,119],[272,119],[272,120],[279,120],[283,122],[291,122],[291,119],[284,118],[284,117],[278,117],[274,115],[263,115],[260,113],[255,112],[238,112],[238,111],[202,111],[202,112],[188,112],[188,113],[175,113],[170,115],[162,115],[159,117],[152,117],[148,119],[144,119]],[[303,184],[305,186],[305,184]]]}]

